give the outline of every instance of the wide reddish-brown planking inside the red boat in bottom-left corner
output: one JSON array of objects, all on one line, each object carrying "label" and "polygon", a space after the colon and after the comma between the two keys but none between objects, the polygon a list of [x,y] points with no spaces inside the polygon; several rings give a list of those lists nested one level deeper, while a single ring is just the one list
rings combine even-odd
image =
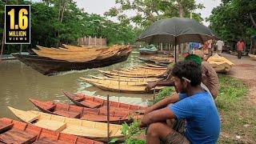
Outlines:
[{"label": "wide reddish-brown planking inside the red boat in bottom-left corner", "polygon": [[4,143],[32,143],[36,138],[36,134],[29,134],[18,129],[12,129],[0,134],[0,141]]}]

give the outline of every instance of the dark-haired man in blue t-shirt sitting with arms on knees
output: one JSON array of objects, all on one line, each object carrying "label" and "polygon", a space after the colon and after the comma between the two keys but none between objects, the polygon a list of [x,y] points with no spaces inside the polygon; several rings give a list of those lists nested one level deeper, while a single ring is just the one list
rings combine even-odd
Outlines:
[{"label": "dark-haired man in blue t-shirt sitting with arms on knees", "polygon": [[[201,67],[193,61],[178,62],[172,70],[180,94],[158,102],[158,110],[144,115],[140,127],[148,127],[147,143],[216,143],[220,133],[218,110],[210,94],[200,86]],[[173,105],[167,106],[168,104]],[[185,133],[167,126],[167,119],[186,119]]]}]

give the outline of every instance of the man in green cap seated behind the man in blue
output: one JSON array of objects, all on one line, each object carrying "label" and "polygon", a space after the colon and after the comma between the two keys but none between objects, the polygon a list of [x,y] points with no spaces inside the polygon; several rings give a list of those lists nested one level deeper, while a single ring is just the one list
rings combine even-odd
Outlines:
[{"label": "man in green cap seated behind the man in blue", "polygon": [[[208,62],[202,61],[202,54],[190,54],[186,56],[186,60],[192,60],[197,62],[202,67],[202,83],[210,90],[213,98],[218,96],[218,75],[214,68],[210,66]],[[146,91],[154,88],[155,86],[174,86],[174,81],[171,79],[170,75],[166,79],[160,80],[158,82],[151,82],[146,86]]]}]

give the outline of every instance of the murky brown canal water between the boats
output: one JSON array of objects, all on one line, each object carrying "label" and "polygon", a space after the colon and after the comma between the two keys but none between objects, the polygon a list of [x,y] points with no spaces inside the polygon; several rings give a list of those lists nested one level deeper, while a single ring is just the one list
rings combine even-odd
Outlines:
[{"label": "murky brown canal water between the boats", "polygon": [[98,69],[72,70],[50,77],[40,74],[38,71],[33,70],[18,60],[2,61],[0,62],[0,118],[17,119],[7,106],[21,110],[38,110],[28,98],[72,104],[62,94],[62,90],[93,95],[98,98],[106,98],[106,95],[109,94],[110,100],[116,102],[146,106],[153,94],[114,93],[98,89],[86,82],[82,82],[79,78],[89,78],[90,75],[101,75],[97,70],[113,70],[138,66],[141,64],[138,56],[138,52],[133,51],[126,62],[120,62]]}]

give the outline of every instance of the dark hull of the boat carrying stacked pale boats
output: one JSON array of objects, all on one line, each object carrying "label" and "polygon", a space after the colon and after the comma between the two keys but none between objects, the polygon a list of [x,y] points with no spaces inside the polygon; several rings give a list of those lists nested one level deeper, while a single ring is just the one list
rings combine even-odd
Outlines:
[{"label": "dark hull of the boat carrying stacked pale boats", "polygon": [[123,55],[115,55],[111,58],[104,60],[93,60],[90,62],[68,62],[63,60],[56,60],[52,58],[40,57],[38,55],[23,55],[12,54],[19,61],[25,63],[27,66],[32,67],[34,70],[44,75],[53,75],[60,71],[67,70],[86,70],[103,66],[110,66],[114,63],[126,61],[130,52]]}]

